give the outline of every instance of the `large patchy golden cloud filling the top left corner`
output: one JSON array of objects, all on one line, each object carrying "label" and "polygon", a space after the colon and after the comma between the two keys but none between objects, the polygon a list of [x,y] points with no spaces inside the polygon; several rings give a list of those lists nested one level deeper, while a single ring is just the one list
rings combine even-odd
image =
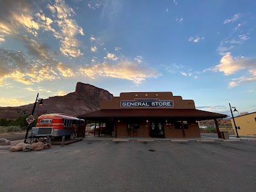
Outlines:
[{"label": "large patchy golden cloud filling the top left corner", "polygon": [[[45,1],[22,1],[10,3],[1,1],[0,7],[0,35],[4,39],[6,35],[24,36],[26,31],[33,36],[38,36],[40,30],[49,31],[57,40],[60,40],[60,51],[65,56],[78,57],[82,55],[79,50],[77,35],[84,35],[83,29],[72,19],[74,10],[63,0],[54,4],[45,5]],[[51,15],[47,17],[40,6],[46,6]],[[26,31],[24,31],[26,29]]]}]

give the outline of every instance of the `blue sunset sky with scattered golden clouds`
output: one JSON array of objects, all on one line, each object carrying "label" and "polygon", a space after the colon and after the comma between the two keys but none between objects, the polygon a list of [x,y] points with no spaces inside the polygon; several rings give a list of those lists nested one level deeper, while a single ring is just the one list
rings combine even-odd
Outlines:
[{"label": "blue sunset sky with scattered golden clouds", "polygon": [[[172,92],[256,111],[256,1],[0,0],[0,106],[74,92]],[[238,113],[234,112],[234,115]]]}]

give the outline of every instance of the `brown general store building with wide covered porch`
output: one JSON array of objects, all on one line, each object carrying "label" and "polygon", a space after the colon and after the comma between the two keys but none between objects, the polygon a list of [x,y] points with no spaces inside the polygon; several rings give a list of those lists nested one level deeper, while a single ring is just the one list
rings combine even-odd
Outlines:
[{"label": "brown general store building with wide covered porch", "polygon": [[[199,138],[198,121],[227,115],[195,108],[194,100],[183,100],[172,92],[129,92],[103,100],[100,110],[79,115],[84,120],[104,123],[115,137]],[[99,132],[100,134],[100,132]]]}]

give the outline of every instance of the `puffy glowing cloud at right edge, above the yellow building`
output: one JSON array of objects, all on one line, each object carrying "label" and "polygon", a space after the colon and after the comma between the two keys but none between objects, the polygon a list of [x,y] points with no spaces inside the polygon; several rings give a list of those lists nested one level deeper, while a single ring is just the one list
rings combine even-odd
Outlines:
[{"label": "puffy glowing cloud at right edge, above the yellow building", "polygon": [[248,69],[248,74],[250,76],[243,76],[232,79],[228,83],[229,87],[237,86],[238,84],[254,82],[256,81],[256,58],[244,58],[242,57],[232,57],[230,52],[223,54],[220,60],[220,64],[212,68],[213,71],[220,71],[229,76],[235,74],[239,70]]}]

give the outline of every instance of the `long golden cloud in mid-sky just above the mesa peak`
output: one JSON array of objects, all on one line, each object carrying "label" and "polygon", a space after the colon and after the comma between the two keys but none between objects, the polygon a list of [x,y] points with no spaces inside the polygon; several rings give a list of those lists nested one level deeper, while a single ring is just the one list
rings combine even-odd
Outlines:
[{"label": "long golden cloud in mid-sky just above the mesa peak", "polygon": [[[88,76],[92,79],[95,79],[96,76],[113,77],[127,79],[135,84],[140,84],[146,78],[161,76],[154,68],[148,67],[145,62],[139,63],[136,60],[128,59],[116,61],[115,64],[104,62],[93,66],[85,65],[81,66],[79,71],[83,76]],[[96,74],[95,71],[97,71]]]}]

